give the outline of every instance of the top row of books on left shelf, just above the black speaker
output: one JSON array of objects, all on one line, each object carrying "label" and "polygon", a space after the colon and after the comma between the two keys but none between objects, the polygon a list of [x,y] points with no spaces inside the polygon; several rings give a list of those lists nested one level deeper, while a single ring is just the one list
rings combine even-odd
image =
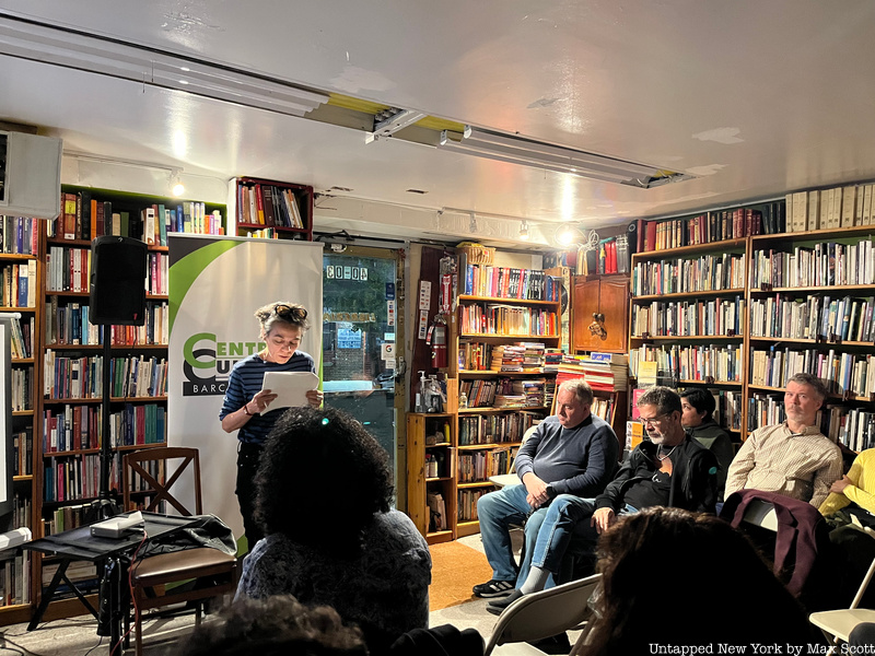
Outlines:
[{"label": "top row of books on left shelf, just above the black speaker", "polygon": [[103,235],[133,237],[150,245],[166,246],[170,233],[223,235],[222,213],[210,214],[202,202],[183,201],[175,208],[149,204],[136,211],[114,211],[108,200],[92,198],[90,190],[61,194],[61,212],[48,224],[48,236],[92,239]]}]

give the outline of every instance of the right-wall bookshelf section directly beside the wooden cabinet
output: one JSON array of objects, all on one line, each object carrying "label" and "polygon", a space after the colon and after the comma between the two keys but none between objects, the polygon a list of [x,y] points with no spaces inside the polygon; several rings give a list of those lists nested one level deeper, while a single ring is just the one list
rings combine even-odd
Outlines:
[{"label": "right-wall bookshelf section directly beside the wooden cabinet", "polygon": [[745,405],[748,242],[719,238],[632,256],[632,377],[639,386],[707,386],[721,425],[736,440]]}]

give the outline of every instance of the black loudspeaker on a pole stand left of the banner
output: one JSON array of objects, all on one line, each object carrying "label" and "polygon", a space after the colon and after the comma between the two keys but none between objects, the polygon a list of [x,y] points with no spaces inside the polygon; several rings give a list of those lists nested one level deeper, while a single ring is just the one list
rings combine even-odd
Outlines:
[{"label": "black loudspeaker on a pole stand left of the banner", "polygon": [[103,326],[103,402],[101,417],[100,501],[109,511],[109,400],[112,397],[112,327],[142,326],[145,323],[145,271],[149,249],[131,237],[103,236],[91,243],[89,321]]}]

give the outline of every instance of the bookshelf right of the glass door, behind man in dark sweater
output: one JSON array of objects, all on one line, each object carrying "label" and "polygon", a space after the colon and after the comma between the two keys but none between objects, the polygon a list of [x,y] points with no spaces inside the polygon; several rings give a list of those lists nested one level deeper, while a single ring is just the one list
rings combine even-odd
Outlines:
[{"label": "bookshelf right of the glass door, behind man in dark sweater", "polygon": [[479,531],[477,500],[511,471],[523,433],[550,413],[556,374],[544,352],[561,343],[560,285],[540,270],[469,263],[459,255],[450,368],[467,407],[455,413],[454,537]]}]

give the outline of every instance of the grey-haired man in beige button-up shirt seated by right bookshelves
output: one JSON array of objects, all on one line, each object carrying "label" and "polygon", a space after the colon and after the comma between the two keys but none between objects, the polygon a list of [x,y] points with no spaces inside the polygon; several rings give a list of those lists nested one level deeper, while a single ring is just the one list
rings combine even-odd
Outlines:
[{"label": "grey-haired man in beige button-up shirt seated by right bookshelves", "polygon": [[775,492],[814,507],[841,478],[839,447],[815,425],[827,391],[812,374],[796,374],[786,384],[786,420],[754,431],[730,466],[725,496],[739,490]]}]

